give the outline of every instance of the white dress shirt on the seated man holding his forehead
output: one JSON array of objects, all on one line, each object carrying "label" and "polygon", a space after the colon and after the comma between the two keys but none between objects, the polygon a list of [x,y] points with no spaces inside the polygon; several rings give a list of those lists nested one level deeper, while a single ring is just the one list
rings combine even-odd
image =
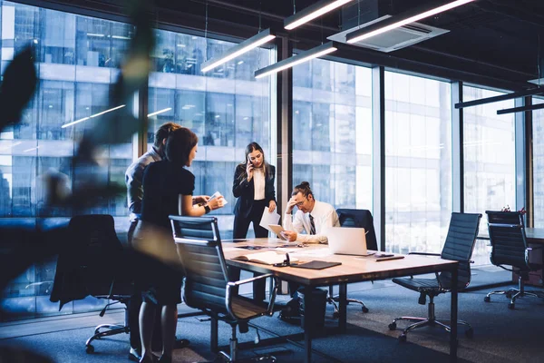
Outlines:
[{"label": "white dress shirt on the seated man holding his forehead", "polygon": [[[314,225],[316,226],[315,235],[310,234],[310,214],[314,218]],[[296,231],[296,241],[303,243],[327,243],[326,236],[320,233],[328,227],[340,227],[335,208],[323,201],[316,201],[314,209],[309,213],[303,213],[299,210],[296,211],[294,217],[290,213],[286,213],[283,224],[285,230]],[[303,234],[303,231],[306,231],[306,234]]]}]

